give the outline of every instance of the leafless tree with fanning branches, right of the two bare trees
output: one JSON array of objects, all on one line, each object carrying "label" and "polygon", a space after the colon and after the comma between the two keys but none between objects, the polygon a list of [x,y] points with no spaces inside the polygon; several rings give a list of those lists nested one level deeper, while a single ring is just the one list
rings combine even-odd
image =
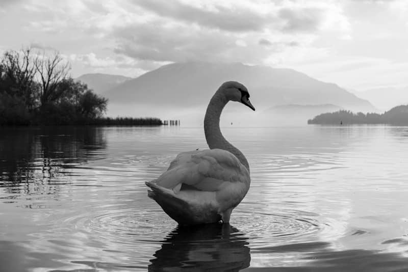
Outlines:
[{"label": "leafless tree with fanning branches, right of the two bare trees", "polygon": [[41,84],[41,106],[59,99],[62,93],[59,92],[57,87],[61,80],[67,77],[71,69],[69,63],[64,61],[57,51],[49,57],[43,51],[42,55],[38,55],[34,59],[34,66],[37,71],[38,81]]}]

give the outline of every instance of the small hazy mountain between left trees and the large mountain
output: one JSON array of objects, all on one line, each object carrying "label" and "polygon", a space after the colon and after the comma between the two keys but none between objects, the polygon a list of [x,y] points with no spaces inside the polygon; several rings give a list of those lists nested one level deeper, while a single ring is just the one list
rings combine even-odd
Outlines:
[{"label": "small hazy mountain between left trees and the large mountain", "polygon": [[81,81],[82,83],[88,85],[88,88],[94,90],[97,94],[103,94],[130,79],[133,78],[123,75],[101,73],[83,74],[75,78],[75,80]]}]

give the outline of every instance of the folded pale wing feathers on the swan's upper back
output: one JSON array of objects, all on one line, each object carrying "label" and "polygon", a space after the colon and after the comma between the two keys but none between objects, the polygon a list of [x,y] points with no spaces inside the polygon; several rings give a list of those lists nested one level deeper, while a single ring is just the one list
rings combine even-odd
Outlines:
[{"label": "folded pale wing feathers on the swan's upper back", "polygon": [[214,192],[231,183],[249,185],[249,172],[231,152],[222,149],[195,150],[177,155],[169,169],[154,182],[165,188],[186,184],[198,191]]}]

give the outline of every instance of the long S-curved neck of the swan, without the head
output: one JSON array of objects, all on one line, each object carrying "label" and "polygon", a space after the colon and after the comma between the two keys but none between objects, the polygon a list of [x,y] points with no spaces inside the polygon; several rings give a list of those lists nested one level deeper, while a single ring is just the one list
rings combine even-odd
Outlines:
[{"label": "long S-curved neck of the swan, without the head", "polygon": [[220,130],[220,116],[227,102],[228,99],[218,90],[208,104],[206,117],[204,118],[204,132],[206,134],[207,144],[210,149],[219,148],[230,151],[249,171],[249,164],[244,154],[225,140]]}]

